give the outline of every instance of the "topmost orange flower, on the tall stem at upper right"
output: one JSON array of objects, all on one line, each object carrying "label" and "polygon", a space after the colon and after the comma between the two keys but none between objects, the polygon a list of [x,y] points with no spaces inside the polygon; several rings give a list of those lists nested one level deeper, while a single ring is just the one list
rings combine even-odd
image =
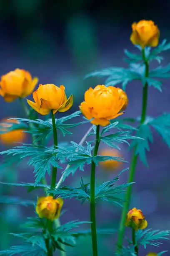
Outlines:
[{"label": "topmost orange flower, on the tall stem at upper right", "polygon": [[160,36],[158,26],[152,20],[140,20],[138,23],[132,24],[132,34],[130,41],[133,44],[138,44],[142,48],[145,46],[157,46]]}]

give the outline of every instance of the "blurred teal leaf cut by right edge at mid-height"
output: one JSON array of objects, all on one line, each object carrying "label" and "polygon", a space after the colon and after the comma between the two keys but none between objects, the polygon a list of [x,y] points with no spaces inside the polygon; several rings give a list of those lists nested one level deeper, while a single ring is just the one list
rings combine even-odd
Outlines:
[{"label": "blurred teal leaf cut by right edge at mid-height", "polygon": [[162,136],[170,148],[170,113],[164,113],[150,121],[150,125]]}]

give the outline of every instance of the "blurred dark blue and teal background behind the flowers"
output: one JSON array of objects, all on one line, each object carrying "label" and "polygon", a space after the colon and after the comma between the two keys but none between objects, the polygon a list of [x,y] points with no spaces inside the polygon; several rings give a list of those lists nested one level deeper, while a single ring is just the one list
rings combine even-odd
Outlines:
[{"label": "blurred dark blue and teal background behind the flowers", "polygon": [[[84,79],[85,74],[109,66],[127,67],[123,61],[124,49],[137,52],[130,42],[131,24],[140,19],[153,20],[160,29],[160,41],[170,41],[170,1],[99,1],[99,0],[0,0],[0,74],[15,68],[28,70],[33,77],[39,77],[42,84],[64,84],[67,95],[74,94],[75,100],[69,113],[78,110],[85,90],[104,83],[104,79]],[[164,55],[163,65],[168,64],[170,51]],[[141,111],[142,85],[131,82],[127,86],[129,105],[124,117],[137,117]],[[29,97],[32,100],[32,96]],[[157,116],[170,111],[170,86],[166,80],[163,92],[149,88],[148,115]],[[25,117],[19,100],[7,103],[0,97],[0,119]],[[67,115],[64,113],[64,115]],[[42,118],[42,117],[41,117]],[[76,121],[82,120],[82,117]],[[73,130],[74,135],[65,138],[59,134],[60,141],[80,141],[89,124]],[[148,152],[149,168],[138,161],[133,186],[131,206],[140,208],[148,228],[170,229],[170,150],[162,138],[153,131],[154,143]],[[26,142],[30,142],[27,136]],[[9,146],[0,144],[0,150]],[[104,145],[101,144],[101,149]],[[131,152],[123,145],[121,155],[130,161]],[[127,168],[129,164],[117,166]],[[97,184],[113,179],[119,170],[105,171],[102,166],[97,170]],[[89,169],[77,171],[65,184],[79,186],[80,177],[89,181]],[[126,182],[128,171],[122,174],[120,183]],[[33,182],[32,169],[23,161],[11,169],[0,169],[0,180],[6,182]],[[36,200],[40,192],[26,193],[25,189],[0,186],[3,196],[21,197]],[[79,201],[65,200],[61,223],[70,220],[89,220],[89,205]],[[118,228],[120,208],[107,203],[97,203],[97,226]],[[33,206],[0,204],[0,249],[20,243],[7,233],[17,233],[25,218],[35,216]],[[127,234],[128,236],[128,230]],[[99,256],[107,253],[112,256],[116,243],[116,233],[99,236]],[[147,248],[147,251],[170,250],[170,242],[160,248]],[[83,237],[77,241],[76,248],[67,251],[68,256],[91,254],[91,239]],[[146,253],[141,248],[141,254]],[[169,255],[167,253],[167,255]]]}]

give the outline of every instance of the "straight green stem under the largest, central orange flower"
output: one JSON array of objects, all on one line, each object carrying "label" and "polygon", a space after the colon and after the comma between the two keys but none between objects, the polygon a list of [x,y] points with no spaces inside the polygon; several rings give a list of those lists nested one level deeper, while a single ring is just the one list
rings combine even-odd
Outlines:
[{"label": "straight green stem under the largest, central orange flower", "polygon": [[[93,156],[97,156],[97,151],[100,143],[100,125],[96,126],[96,143]],[[92,160],[91,177],[90,177],[90,219],[92,232],[92,253],[97,256],[97,232],[95,220],[95,162]]]}]

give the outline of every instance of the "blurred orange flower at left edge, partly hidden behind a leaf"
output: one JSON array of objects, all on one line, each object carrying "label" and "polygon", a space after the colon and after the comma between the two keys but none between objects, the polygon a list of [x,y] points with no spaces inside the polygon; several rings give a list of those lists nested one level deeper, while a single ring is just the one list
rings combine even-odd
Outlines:
[{"label": "blurred orange flower at left edge, partly hidden behind a leaf", "polygon": [[16,124],[19,122],[15,119],[3,119],[0,122],[0,132],[3,132],[0,133],[0,141],[3,144],[14,145],[16,142],[23,142],[25,140],[26,133],[24,133],[22,129],[8,131],[8,129],[13,126],[13,123]]}]

